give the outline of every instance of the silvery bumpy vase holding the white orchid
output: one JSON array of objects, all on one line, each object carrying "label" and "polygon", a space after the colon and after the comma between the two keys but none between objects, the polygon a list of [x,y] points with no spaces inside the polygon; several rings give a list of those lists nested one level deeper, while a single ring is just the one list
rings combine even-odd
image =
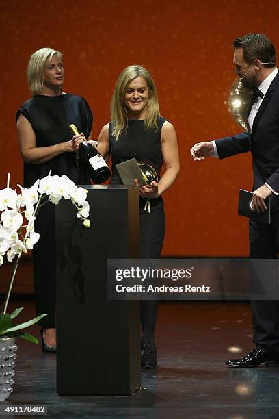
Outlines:
[{"label": "silvery bumpy vase holding the white orchid", "polygon": [[0,338],[0,401],[12,393],[14,366],[17,349],[14,338]]}]

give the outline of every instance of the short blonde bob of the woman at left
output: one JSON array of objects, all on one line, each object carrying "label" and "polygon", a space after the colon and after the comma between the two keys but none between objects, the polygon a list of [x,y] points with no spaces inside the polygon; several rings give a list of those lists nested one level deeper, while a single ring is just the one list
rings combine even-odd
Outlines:
[{"label": "short blonde bob of the woman at left", "polygon": [[27,66],[27,79],[32,94],[42,94],[44,66],[46,61],[51,60],[55,54],[58,55],[59,60],[62,60],[62,53],[52,48],[41,48],[31,55]]}]

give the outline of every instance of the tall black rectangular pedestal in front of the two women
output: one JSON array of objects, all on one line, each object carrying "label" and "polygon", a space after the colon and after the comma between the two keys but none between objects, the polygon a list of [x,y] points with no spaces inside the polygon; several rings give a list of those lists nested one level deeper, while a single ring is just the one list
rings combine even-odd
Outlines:
[{"label": "tall black rectangular pedestal in front of the two women", "polygon": [[131,394],[141,385],[139,302],[107,300],[107,259],[138,256],[138,191],[87,188],[89,229],[70,201],[56,210],[57,393]]}]

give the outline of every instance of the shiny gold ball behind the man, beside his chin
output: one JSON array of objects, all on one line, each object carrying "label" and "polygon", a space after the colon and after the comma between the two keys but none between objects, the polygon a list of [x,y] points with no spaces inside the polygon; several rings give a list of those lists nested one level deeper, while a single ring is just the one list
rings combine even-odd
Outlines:
[{"label": "shiny gold ball behind the man, beside his chin", "polygon": [[236,79],[233,86],[230,88],[228,95],[228,110],[233,118],[246,131],[247,127],[247,111],[253,92],[242,86],[241,80]]}]

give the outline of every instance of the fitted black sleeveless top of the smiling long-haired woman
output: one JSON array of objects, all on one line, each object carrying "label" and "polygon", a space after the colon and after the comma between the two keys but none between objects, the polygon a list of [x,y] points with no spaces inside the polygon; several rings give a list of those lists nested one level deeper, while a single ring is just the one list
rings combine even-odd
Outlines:
[{"label": "fitted black sleeveless top of the smiling long-haired woman", "polygon": [[[109,123],[109,150],[111,153],[111,185],[122,185],[121,177],[116,168],[116,164],[125,162],[135,157],[137,162],[150,164],[155,168],[160,179],[161,168],[163,164],[163,155],[161,148],[161,129],[165,118],[159,116],[158,129],[146,129],[144,120],[128,120],[127,132],[123,132],[118,140],[111,134],[111,123]],[[144,211],[146,198],[139,197],[140,211]],[[163,207],[161,196],[151,199],[151,211]]]}]

